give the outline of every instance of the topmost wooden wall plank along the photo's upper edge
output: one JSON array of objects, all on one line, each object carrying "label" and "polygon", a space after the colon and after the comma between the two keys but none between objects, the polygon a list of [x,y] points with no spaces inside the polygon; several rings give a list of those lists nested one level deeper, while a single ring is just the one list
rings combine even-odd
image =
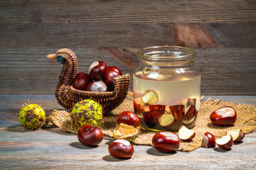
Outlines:
[{"label": "topmost wooden wall plank along the photo's upper edge", "polygon": [[250,22],[255,1],[1,1],[0,22]]}]

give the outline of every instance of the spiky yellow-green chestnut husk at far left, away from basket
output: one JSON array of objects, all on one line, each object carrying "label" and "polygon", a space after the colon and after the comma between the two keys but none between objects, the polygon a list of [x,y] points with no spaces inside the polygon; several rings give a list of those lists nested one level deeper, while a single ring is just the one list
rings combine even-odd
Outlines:
[{"label": "spiky yellow-green chestnut husk at far left, away from basket", "polygon": [[45,111],[37,104],[26,104],[18,113],[18,120],[21,125],[29,130],[41,128],[45,119]]}]

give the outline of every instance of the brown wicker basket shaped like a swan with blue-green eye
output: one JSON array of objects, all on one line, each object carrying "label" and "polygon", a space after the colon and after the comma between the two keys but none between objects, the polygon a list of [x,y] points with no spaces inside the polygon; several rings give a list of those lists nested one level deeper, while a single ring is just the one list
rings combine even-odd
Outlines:
[{"label": "brown wicker basket shaped like a swan with blue-green eye", "polygon": [[55,98],[61,106],[68,110],[73,108],[75,103],[78,103],[82,99],[92,98],[100,103],[103,112],[107,113],[117,108],[127,96],[130,81],[129,74],[114,78],[114,91],[80,91],[74,89],[72,86],[73,79],[78,72],[78,60],[75,53],[70,49],[63,48],[53,55],[47,55],[47,57],[52,59],[50,62],[60,62],[63,64],[63,70],[60,73],[55,89]]}]

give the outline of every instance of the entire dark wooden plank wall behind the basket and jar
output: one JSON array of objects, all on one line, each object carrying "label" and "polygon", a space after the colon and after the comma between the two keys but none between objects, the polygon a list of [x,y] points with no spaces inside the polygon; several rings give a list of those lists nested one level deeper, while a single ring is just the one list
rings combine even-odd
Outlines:
[{"label": "entire dark wooden plank wall behind the basket and jar", "polygon": [[203,95],[256,95],[255,39],[255,0],[2,0],[0,94],[53,94],[62,66],[46,55],[63,47],[79,72],[105,60],[132,74],[139,48],[181,45],[198,52]]}]

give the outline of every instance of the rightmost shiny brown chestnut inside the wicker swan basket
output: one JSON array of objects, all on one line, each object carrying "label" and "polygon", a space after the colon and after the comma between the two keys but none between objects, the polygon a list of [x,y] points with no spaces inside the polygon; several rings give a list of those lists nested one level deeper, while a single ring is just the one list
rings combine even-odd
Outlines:
[{"label": "rightmost shiny brown chestnut inside the wicker swan basket", "polygon": [[105,74],[105,84],[109,86],[110,89],[114,88],[114,77],[119,77],[122,75],[120,69],[114,66],[108,66]]}]

